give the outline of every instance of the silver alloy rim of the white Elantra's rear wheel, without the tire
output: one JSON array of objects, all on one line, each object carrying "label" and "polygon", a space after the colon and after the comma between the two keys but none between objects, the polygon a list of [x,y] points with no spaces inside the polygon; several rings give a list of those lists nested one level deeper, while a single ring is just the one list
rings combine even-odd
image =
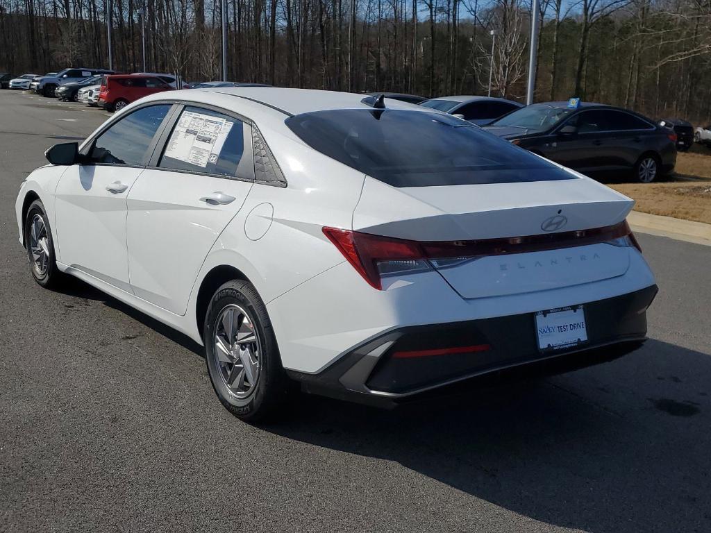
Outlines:
[{"label": "silver alloy rim of the white Elantra's rear wheel, without the tire", "polygon": [[230,394],[244,399],[260,378],[260,338],[252,319],[240,306],[230,304],[215,322],[215,367]]}]

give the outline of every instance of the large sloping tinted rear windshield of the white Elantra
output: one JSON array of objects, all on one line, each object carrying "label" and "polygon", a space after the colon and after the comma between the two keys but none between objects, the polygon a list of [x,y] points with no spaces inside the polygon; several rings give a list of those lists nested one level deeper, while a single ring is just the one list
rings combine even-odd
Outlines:
[{"label": "large sloping tinted rear windshield of the white Elantra", "polygon": [[574,179],[477,126],[431,112],[336,109],[298,114],[311,148],[395,187]]}]

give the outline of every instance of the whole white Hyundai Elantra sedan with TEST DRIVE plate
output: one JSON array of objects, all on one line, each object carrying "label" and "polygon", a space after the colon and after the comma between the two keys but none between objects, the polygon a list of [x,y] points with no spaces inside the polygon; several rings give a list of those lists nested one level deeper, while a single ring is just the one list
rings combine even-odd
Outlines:
[{"label": "whole white Hyundai Elantra sedan with TEST DRIVE plate", "polygon": [[435,110],[161,93],[46,156],[16,203],[36,281],[77,276],[204,345],[242,419],[299,384],[391,406],[646,338],[632,200]]}]

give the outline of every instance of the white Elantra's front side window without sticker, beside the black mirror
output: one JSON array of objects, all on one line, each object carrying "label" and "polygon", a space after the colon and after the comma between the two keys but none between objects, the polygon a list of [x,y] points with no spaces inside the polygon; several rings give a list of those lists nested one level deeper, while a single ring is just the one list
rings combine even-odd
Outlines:
[{"label": "white Elantra's front side window without sticker, beside the black mirror", "polygon": [[149,156],[148,149],[169,104],[141,107],[114,122],[92,144],[89,153],[92,163],[142,166]]}]

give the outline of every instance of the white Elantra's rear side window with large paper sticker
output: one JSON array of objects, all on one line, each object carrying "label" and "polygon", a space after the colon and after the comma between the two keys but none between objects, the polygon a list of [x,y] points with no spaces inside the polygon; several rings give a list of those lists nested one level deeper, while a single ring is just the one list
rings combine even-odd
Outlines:
[{"label": "white Elantra's rear side window with large paper sticker", "polygon": [[158,166],[252,179],[251,135],[251,126],[235,117],[186,107],[173,126]]}]

